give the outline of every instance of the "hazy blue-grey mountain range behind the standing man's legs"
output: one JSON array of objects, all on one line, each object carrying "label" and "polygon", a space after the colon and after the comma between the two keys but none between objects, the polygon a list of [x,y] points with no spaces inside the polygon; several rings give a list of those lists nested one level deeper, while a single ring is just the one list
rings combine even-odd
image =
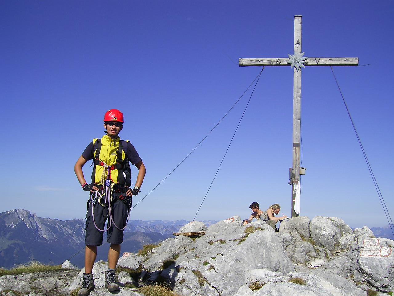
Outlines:
[{"label": "hazy blue-grey mountain range behind the standing man's legs", "polygon": [[[217,221],[204,221],[211,225]],[[158,244],[169,238],[189,221],[129,221],[121,252],[136,253],[146,244]],[[61,264],[65,260],[84,266],[85,220],[41,218],[27,210],[0,213],[0,267],[12,268],[37,260],[45,264]],[[97,260],[107,261],[108,243],[97,248]],[[82,251],[81,251],[82,250]],[[78,253],[79,252],[79,253]]]}]

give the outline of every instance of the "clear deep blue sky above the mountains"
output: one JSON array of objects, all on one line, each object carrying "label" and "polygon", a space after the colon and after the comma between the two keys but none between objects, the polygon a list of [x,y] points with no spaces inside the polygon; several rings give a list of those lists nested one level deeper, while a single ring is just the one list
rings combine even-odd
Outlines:
[{"label": "clear deep blue sky above the mountains", "polygon": [[[293,53],[294,15],[302,15],[305,56],[368,64],[334,72],[392,211],[393,13],[392,1],[1,1],[0,212],[84,218],[87,195],[73,167],[112,108],[147,167],[136,204],[258,75],[238,58]],[[130,219],[193,219],[250,95]],[[254,201],[290,215],[292,97],[292,69],[266,67],[197,220],[245,219]],[[302,70],[301,125],[301,215],[387,225],[330,67]],[[88,179],[88,164],[84,172]]]}]

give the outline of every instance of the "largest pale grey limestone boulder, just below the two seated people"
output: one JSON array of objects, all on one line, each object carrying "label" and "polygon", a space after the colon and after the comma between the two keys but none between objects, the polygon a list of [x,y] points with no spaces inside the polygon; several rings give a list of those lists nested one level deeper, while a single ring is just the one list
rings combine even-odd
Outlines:
[{"label": "largest pale grey limestone boulder, just below the two seated people", "polygon": [[[247,270],[264,268],[287,274],[294,270],[272,227],[264,221],[242,226],[220,221],[195,242],[197,258],[181,255],[175,291],[185,295],[234,295]],[[246,230],[246,232],[245,232]]]}]

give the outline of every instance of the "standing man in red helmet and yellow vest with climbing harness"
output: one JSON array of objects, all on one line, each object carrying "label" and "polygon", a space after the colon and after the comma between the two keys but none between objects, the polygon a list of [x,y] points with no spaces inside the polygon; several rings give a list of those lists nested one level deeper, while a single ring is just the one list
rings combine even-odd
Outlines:
[{"label": "standing man in red helmet and yellow vest with climbing harness", "polygon": [[[95,289],[93,264],[97,256],[97,246],[102,245],[104,231],[107,231],[110,249],[108,251],[108,270],[105,272],[105,287],[109,292],[119,290],[115,280],[115,268],[123,242],[131,209],[132,195],[137,195],[145,177],[145,165],[136,149],[129,141],[118,136],[123,128],[123,114],[111,109],[104,115],[105,133],[101,139],[93,139],[74,166],[75,174],[82,189],[90,192],[86,214],[85,273],[78,296],[87,296]],[[87,184],[82,167],[93,159],[92,180]],[[130,163],[138,169],[136,184],[131,186]],[[107,227],[105,221],[108,219]]]}]

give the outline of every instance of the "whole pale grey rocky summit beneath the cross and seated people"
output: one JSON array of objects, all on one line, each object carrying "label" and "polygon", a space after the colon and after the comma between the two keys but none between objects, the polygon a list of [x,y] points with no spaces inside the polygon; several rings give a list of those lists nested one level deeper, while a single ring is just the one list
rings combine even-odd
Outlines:
[{"label": "whole pale grey rocky summit beneath the cross and seated people", "polygon": [[[375,238],[368,227],[352,230],[336,217],[292,218],[281,223],[279,232],[264,221],[242,226],[239,216],[209,227],[194,221],[179,230],[188,235],[201,231],[197,238],[168,238],[145,255],[124,253],[117,272],[119,294],[141,296],[135,287],[164,282],[184,296],[383,296],[394,291],[394,241]],[[94,264],[91,296],[109,294],[104,288],[107,268],[104,261]],[[72,295],[83,273],[53,285]],[[12,282],[24,287],[17,292],[34,296],[27,286],[37,281],[34,275],[3,276],[0,291],[11,289],[6,287]],[[13,296],[9,293],[2,295]]]}]

